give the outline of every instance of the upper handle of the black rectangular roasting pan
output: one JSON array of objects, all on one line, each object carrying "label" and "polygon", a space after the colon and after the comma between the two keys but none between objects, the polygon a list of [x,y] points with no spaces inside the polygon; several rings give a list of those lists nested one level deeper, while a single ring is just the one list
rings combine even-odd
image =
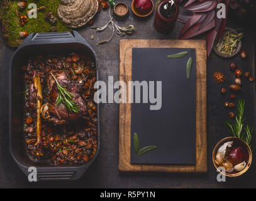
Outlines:
[{"label": "upper handle of the black rectangular roasting pan", "polygon": [[49,33],[31,33],[23,41],[18,49],[27,45],[40,45],[40,44],[52,44],[52,43],[82,43],[91,48],[82,36],[77,31],[67,32],[49,32]]}]

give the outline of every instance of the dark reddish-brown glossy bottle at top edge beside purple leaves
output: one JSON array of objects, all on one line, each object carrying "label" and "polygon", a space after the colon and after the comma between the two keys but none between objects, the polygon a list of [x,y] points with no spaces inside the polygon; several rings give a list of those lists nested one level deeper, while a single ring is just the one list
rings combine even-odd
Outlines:
[{"label": "dark reddish-brown glossy bottle at top edge beside purple leaves", "polygon": [[160,33],[170,33],[174,29],[178,15],[179,6],[173,0],[162,1],[155,12],[155,29]]}]

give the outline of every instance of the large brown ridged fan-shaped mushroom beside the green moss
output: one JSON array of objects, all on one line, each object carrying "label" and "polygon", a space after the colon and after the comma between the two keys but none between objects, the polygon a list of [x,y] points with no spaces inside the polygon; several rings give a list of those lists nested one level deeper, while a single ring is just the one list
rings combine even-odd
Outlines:
[{"label": "large brown ridged fan-shaped mushroom beside the green moss", "polygon": [[94,17],[97,8],[97,0],[61,0],[57,13],[65,26],[79,28]]}]

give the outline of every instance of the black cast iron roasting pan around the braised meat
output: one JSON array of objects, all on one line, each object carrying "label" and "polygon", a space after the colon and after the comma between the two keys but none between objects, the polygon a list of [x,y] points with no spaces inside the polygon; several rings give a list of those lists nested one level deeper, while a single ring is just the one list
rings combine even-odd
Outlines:
[{"label": "black cast iron roasting pan around the braised meat", "polygon": [[[10,63],[9,79],[9,149],[16,164],[28,176],[28,168],[35,166],[38,180],[77,180],[95,160],[99,152],[99,122],[97,122],[98,149],[94,158],[85,165],[38,165],[33,163],[25,153],[23,141],[23,115],[25,110],[23,72],[21,67],[26,65],[31,55],[87,53],[94,59],[97,68],[97,57],[91,46],[77,31],[62,33],[32,33],[14,52]],[[97,119],[99,119],[99,106],[97,106]]]}]

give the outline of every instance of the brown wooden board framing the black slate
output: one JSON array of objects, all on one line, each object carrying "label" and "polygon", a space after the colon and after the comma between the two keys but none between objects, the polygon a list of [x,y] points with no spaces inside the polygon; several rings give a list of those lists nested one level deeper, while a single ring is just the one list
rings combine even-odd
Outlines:
[{"label": "brown wooden board framing the black slate", "polygon": [[[132,48],[196,48],[196,165],[135,165],[130,163],[131,104],[120,104],[120,171],[206,172],[206,41],[204,40],[120,40],[120,80],[131,80]],[[128,100],[128,97],[127,97]]]}]

